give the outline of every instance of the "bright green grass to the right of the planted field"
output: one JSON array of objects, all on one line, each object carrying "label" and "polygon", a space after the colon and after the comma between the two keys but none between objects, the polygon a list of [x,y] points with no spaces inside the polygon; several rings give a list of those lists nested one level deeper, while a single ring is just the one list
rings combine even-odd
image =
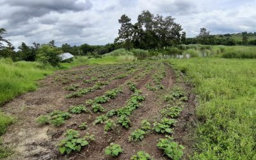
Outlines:
[{"label": "bright green grass to the right of the planted field", "polygon": [[170,60],[195,85],[199,106],[193,159],[256,159],[255,60]]}]

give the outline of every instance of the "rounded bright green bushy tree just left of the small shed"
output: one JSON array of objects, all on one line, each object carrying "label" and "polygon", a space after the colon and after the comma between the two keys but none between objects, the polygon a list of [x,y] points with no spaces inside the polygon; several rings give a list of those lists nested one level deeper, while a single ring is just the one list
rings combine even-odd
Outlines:
[{"label": "rounded bright green bushy tree just left of the small shed", "polygon": [[36,61],[56,66],[60,62],[59,52],[60,51],[58,51],[56,47],[52,47],[52,45],[42,45],[36,51]]}]

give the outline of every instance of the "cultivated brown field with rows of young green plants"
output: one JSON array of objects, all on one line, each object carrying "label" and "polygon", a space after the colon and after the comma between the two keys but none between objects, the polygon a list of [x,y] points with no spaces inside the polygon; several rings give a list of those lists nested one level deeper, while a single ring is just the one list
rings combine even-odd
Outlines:
[{"label": "cultivated brown field with rows of young green plants", "polygon": [[[3,106],[17,118],[3,140],[16,151],[10,159],[130,159],[139,151],[154,159],[180,158],[183,152],[188,158],[195,103],[181,72],[169,63],[75,67]],[[110,143],[122,153],[106,151]]]}]

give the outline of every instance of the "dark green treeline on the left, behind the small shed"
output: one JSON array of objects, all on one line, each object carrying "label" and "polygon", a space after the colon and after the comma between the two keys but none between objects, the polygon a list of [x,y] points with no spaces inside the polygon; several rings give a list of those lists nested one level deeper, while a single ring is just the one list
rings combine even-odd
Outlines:
[{"label": "dark green treeline on the left, behind the small shed", "polygon": [[10,40],[3,38],[6,34],[6,29],[0,28],[0,58],[12,58],[13,61],[42,61],[44,63],[50,63],[51,65],[57,65],[60,58],[59,54],[63,52],[70,52],[74,56],[89,56],[100,57],[100,55],[114,51],[120,48],[119,44],[106,44],[106,45],[89,45],[83,44],[80,46],[70,44],[62,44],[61,47],[57,47],[55,41],[52,40],[47,44],[38,44],[33,42],[33,45],[29,46],[22,42],[15,51],[15,47]]}]

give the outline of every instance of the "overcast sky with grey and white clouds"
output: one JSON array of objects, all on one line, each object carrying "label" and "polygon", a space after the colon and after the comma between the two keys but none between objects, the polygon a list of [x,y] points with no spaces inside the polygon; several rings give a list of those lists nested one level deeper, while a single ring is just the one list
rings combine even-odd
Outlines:
[{"label": "overcast sky with grey and white clouds", "polygon": [[50,40],[103,45],[118,35],[121,15],[135,22],[143,10],[172,15],[190,37],[202,27],[212,34],[256,31],[256,0],[0,0],[0,28],[15,47]]}]

